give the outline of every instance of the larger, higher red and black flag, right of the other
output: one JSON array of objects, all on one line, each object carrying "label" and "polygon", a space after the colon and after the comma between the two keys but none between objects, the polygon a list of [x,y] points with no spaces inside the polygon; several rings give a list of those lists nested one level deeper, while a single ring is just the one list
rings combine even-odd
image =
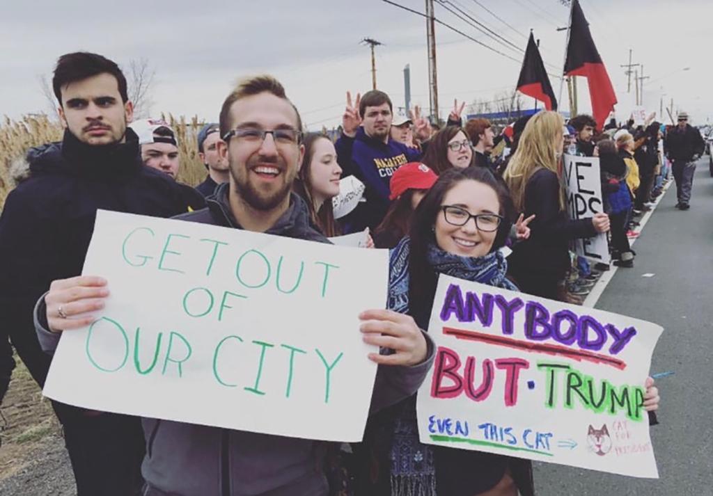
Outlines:
[{"label": "larger, higher red and black flag, right of the other", "polygon": [[578,0],[572,0],[570,41],[567,46],[565,76],[584,76],[589,83],[592,115],[601,129],[617,103],[612,81],[602,62]]}]

